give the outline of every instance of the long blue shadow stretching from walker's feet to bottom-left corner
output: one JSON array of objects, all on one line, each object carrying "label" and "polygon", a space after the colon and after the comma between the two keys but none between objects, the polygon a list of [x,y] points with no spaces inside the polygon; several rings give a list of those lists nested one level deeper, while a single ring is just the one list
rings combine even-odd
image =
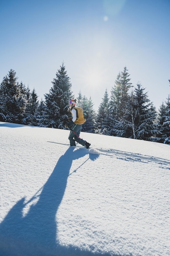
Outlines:
[{"label": "long blue shadow stretching from walker's feet to bottom-left corner", "polygon": [[[56,242],[56,213],[66,189],[67,178],[74,159],[84,157],[86,150],[69,147],[58,160],[53,173],[39,195],[29,202],[38,202],[23,216],[27,203],[19,200],[0,224],[0,256],[94,256],[75,247]],[[106,254],[105,254],[106,255]]]}]

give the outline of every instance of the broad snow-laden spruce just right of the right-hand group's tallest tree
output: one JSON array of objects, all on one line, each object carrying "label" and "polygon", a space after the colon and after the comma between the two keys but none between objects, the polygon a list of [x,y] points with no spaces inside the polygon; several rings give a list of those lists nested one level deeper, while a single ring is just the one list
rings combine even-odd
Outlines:
[{"label": "broad snow-laden spruce just right of the right-hand group's tallest tree", "polygon": [[133,139],[157,141],[157,112],[144,90],[138,83],[134,93],[129,97],[124,116],[119,121],[117,134]]}]

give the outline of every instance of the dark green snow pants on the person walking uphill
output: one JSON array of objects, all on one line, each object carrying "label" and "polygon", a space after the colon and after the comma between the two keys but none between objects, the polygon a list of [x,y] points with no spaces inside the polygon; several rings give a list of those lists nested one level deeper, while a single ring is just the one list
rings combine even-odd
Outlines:
[{"label": "dark green snow pants on the person walking uphill", "polygon": [[[70,140],[70,146],[75,146],[75,141],[77,141],[82,146],[85,146],[86,141],[79,138],[81,130],[82,124],[73,124],[73,126],[71,127],[70,135],[68,137],[68,139]],[[73,131],[76,133],[76,135]]]}]

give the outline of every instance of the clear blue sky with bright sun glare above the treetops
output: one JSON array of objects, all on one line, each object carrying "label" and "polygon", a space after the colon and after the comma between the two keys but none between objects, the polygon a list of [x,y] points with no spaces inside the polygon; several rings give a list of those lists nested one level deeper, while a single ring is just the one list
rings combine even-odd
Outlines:
[{"label": "clear blue sky with bright sun glare above the treetops", "polygon": [[158,109],[170,94],[170,0],[0,0],[0,82],[10,69],[39,99],[64,61],[97,110],[126,66]]}]

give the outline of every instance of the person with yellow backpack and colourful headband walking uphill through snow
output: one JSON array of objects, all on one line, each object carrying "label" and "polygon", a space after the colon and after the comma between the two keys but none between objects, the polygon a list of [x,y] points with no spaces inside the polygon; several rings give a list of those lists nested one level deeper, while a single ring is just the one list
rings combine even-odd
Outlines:
[{"label": "person with yellow backpack and colourful headband walking uphill through snow", "polygon": [[86,119],[84,118],[82,108],[76,107],[76,99],[71,99],[69,101],[69,110],[71,112],[71,117],[68,118],[66,125],[71,129],[68,137],[70,140],[70,146],[76,146],[75,141],[77,141],[82,146],[89,148],[91,144],[79,137],[82,130],[82,124],[85,123]]}]

